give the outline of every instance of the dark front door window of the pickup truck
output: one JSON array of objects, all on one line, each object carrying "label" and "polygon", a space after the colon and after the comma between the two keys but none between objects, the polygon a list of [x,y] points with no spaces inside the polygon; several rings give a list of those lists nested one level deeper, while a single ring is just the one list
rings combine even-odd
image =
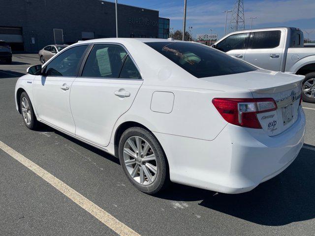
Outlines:
[{"label": "dark front door window of the pickup truck", "polygon": [[244,49],[249,33],[237,33],[228,36],[216,45],[216,49],[226,53],[235,49]]}]

